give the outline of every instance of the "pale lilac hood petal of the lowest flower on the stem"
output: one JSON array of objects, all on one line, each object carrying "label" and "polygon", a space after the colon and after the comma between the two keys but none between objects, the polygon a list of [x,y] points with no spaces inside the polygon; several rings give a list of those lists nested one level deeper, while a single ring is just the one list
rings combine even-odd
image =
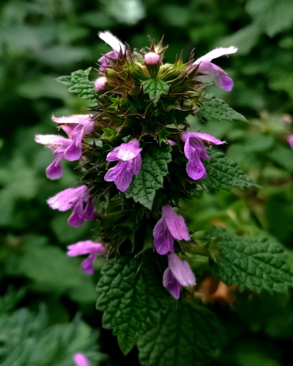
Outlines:
[{"label": "pale lilac hood petal of the lowest flower on the stem", "polygon": [[195,277],[189,264],[182,261],[175,253],[168,255],[168,264],[173,276],[182,286],[194,286]]}]

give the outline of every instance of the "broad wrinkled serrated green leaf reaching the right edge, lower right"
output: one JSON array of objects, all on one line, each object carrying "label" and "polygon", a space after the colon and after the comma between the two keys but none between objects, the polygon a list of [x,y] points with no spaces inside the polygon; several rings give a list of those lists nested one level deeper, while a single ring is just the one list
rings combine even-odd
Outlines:
[{"label": "broad wrinkled serrated green leaf reaching the right edge, lower right", "polygon": [[293,271],[283,247],[261,235],[238,236],[217,231],[216,275],[227,285],[238,284],[253,292],[286,292],[293,285]]}]

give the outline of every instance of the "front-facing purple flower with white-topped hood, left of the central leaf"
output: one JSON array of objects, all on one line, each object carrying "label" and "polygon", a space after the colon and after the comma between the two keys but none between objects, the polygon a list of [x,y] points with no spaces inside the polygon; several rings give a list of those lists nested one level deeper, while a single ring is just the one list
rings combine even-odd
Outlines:
[{"label": "front-facing purple flower with white-topped hood, left of the central leaf", "polygon": [[126,191],[132,181],[132,176],[138,175],[142,165],[141,151],[138,139],[115,147],[107,155],[107,161],[118,160],[119,162],[107,171],[104,177],[106,182],[114,182],[121,192]]}]

